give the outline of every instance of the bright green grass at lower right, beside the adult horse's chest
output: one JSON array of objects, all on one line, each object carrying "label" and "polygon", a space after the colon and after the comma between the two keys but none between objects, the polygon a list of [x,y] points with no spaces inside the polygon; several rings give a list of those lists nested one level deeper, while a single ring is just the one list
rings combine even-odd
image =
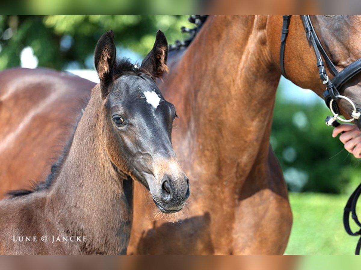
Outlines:
[{"label": "bright green grass at lower right, beside the adult horse's chest", "polygon": [[[354,254],[358,237],[348,235],[342,223],[343,208],[347,199],[347,195],[291,193],[293,226],[285,253]],[[355,228],[357,227],[353,227]]]}]

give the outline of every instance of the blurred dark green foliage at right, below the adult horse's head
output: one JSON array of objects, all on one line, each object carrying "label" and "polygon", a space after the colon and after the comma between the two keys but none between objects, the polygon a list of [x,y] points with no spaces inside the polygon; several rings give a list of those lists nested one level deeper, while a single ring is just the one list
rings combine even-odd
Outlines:
[{"label": "blurred dark green foliage at right, below the adult horse's head", "polygon": [[360,161],[332,138],[332,127],[325,125],[326,105],[290,103],[284,98],[287,90],[279,90],[270,142],[289,189],[351,193],[361,180]]}]

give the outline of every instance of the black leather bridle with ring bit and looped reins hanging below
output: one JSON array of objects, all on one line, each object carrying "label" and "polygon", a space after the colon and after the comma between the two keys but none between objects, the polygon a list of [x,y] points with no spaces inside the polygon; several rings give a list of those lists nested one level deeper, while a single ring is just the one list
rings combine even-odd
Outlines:
[{"label": "black leather bridle with ring bit and looped reins hanging below", "polygon": [[[342,71],[338,71],[335,65],[332,63],[331,59],[327,55],[325,49],[323,49],[321,42],[318,39],[317,33],[315,32],[310,16],[309,15],[301,15],[300,16],[303,22],[303,26],[306,31],[306,37],[311,42],[314,53],[317,58],[317,67],[318,74],[322,80],[322,83],[326,85],[326,90],[323,92],[323,99],[325,100],[326,106],[329,107],[333,116],[327,116],[326,125],[328,126],[339,126],[340,123],[336,120],[351,122],[360,118],[361,112],[356,111],[356,106],[351,99],[347,96],[343,96],[340,94],[340,91],[344,90],[344,85],[347,81],[353,78],[355,75],[361,73],[361,58],[351,63],[349,66],[342,69]],[[284,51],[286,49],[286,39],[288,35],[288,27],[290,26],[291,15],[283,15],[283,24],[282,24],[282,35],[281,35],[281,49],[280,49],[280,69],[281,73],[284,77],[287,78],[286,72],[284,69]],[[323,63],[323,59],[327,66],[329,67],[330,72],[334,76],[332,80],[330,80],[329,76],[326,73],[325,64]],[[345,120],[339,117],[340,110],[335,101],[339,99],[345,99],[352,105],[351,119]],[[346,232],[349,235],[361,235],[361,222],[358,220],[356,214],[356,203],[361,194],[361,184],[357,186],[356,190],[349,197],[347,204],[344,208],[343,215],[343,224]],[[355,223],[360,227],[360,230],[353,232],[351,230],[349,224],[349,216],[352,214],[352,219]],[[361,237],[357,242],[356,246],[356,255],[360,255],[361,249]]]}]

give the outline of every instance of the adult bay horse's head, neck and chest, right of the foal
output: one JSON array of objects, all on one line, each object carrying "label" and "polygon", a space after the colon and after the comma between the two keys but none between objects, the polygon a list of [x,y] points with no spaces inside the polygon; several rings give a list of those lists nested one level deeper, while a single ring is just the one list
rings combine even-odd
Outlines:
[{"label": "adult bay horse's head, neck and chest, right of the foal", "polygon": [[[360,17],[312,16],[312,21],[339,70],[360,57]],[[182,223],[170,224],[154,220],[144,198],[149,196],[135,183],[130,254],[284,252],[292,213],[269,145],[282,24],[282,16],[208,17],[188,48],[169,53],[170,72],[160,89],[177,106],[173,146],[197,192]],[[325,87],[299,17],[290,22],[286,43],[287,77],[322,96]],[[359,109],[360,85],[348,86],[343,94]],[[349,117],[349,103],[337,103]]]}]

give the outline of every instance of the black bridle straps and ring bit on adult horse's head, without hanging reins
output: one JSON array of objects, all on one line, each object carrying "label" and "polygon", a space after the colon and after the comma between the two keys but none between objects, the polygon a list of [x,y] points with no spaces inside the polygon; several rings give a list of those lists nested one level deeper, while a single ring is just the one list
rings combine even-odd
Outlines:
[{"label": "black bridle straps and ring bit on adult horse's head, without hanging reins", "polygon": [[[311,42],[314,53],[317,59],[317,68],[318,74],[323,84],[326,85],[326,90],[323,92],[323,100],[325,100],[326,106],[330,108],[333,116],[328,116],[326,118],[326,125],[328,126],[338,126],[339,123],[336,119],[344,122],[352,122],[357,120],[361,116],[361,112],[356,111],[356,106],[347,96],[340,95],[340,91],[344,90],[344,85],[347,81],[351,80],[355,75],[361,72],[361,58],[345,67],[342,71],[338,71],[334,63],[332,63],[330,57],[327,55],[325,49],[321,42],[318,39],[317,33],[314,30],[313,24],[311,22],[309,15],[300,16],[303,22],[303,26],[306,31],[306,37]],[[283,15],[283,25],[282,25],[282,36],[281,36],[281,49],[280,49],[280,69],[284,77],[286,76],[286,71],[284,70],[284,51],[286,48],[286,39],[288,35],[288,27],[290,25],[291,15]],[[329,67],[331,74],[334,76],[332,80],[329,79],[329,76],[326,73],[325,64],[323,59]],[[351,119],[345,120],[339,117],[340,110],[336,102],[337,100],[345,99],[352,105]]]}]

